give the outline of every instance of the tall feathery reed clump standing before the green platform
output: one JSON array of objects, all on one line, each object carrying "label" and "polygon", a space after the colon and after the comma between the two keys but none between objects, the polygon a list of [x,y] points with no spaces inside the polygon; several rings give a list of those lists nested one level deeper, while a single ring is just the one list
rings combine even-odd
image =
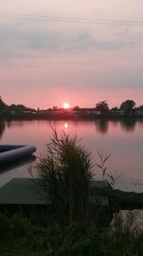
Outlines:
[{"label": "tall feathery reed clump standing before the green platform", "polygon": [[90,218],[91,153],[76,136],[52,129],[47,154],[36,169],[51,201],[54,221],[88,222]]}]

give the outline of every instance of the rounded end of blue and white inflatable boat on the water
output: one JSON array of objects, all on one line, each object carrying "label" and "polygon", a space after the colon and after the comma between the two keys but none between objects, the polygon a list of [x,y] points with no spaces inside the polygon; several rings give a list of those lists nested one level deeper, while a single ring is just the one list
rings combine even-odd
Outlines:
[{"label": "rounded end of blue and white inflatable boat on the water", "polygon": [[36,148],[29,145],[0,145],[0,164],[24,158],[35,151]]}]

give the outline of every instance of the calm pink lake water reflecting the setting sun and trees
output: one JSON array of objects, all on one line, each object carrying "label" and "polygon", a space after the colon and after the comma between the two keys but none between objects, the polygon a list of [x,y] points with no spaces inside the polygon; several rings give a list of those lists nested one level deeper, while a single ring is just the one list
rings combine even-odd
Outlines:
[{"label": "calm pink lake water reflecting the setting sun and trees", "polygon": [[[37,148],[36,156],[46,150],[51,135],[51,125],[57,131],[65,130],[82,138],[83,143],[92,151],[92,157],[99,162],[97,151],[111,153],[107,163],[108,171],[121,175],[116,186],[125,190],[143,192],[143,121],[137,122],[101,122],[101,121],[13,121],[0,123],[1,144],[30,144]],[[30,176],[28,164],[18,162],[2,170],[0,167],[0,185],[12,177]],[[97,178],[101,174],[94,169]]]}]

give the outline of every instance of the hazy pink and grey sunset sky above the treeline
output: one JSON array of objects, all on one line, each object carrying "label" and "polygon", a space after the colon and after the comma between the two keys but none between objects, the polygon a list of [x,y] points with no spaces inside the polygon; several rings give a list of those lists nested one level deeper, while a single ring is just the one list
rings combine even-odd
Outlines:
[{"label": "hazy pink and grey sunset sky above the treeline", "polygon": [[1,0],[2,99],[143,105],[142,10],[142,0]]}]

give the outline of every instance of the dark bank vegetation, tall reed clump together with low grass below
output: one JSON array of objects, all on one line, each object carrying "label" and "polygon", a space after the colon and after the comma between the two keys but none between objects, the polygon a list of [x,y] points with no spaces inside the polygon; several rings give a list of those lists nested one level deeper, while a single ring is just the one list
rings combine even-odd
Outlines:
[{"label": "dark bank vegetation, tall reed clump together with low grass below", "polygon": [[[105,178],[109,155],[99,156],[101,163],[97,166]],[[76,136],[59,136],[53,130],[46,155],[34,167],[47,194],[48,207],[28,212],[23,206],[12,213],[3,209],[0,255],[143,255],[143,232],[136,224],[137,215],[133,211],[126,217],[115,214],[107,225],[105,208],[92,201],[92,168],[91,153]]]}]

